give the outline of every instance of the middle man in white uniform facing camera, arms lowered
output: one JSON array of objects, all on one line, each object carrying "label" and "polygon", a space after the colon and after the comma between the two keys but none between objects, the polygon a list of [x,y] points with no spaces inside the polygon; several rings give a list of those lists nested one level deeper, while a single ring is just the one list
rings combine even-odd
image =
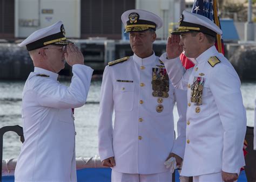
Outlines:
[{"label": "middle man in white uniform facing camera, arms lowered", "polygon": [[180,164],[184,155],[186,93],[170,84],[163,62],[152,50],[161,18],[148,11],[129,10],[122,21],[134,54],[105,67],[98,126],[100,159],[112,167],[114,182],[170,182],[171,172],[164,162],[175,157]]}]

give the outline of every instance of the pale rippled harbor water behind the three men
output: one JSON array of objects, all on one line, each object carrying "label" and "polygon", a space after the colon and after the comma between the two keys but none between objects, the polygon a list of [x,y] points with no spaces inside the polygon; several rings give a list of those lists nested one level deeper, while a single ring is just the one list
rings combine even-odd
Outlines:
[{"label": "pale rippled harbor water behind the three men", "polygon": [[[60,81],[69,85],[68,81]],[[21,125],[21,104],[24,81],[0,81],[0,128]],[[75,109],[76,155],[77,157],[98,156],[98,111],[101,81],[92,81],[86,104]],[[242,82],[241,92],[246,108],[247,125],[254,123],[254,99],[256,82]],[[232,107],[232,106],[230,106]],[[177,127],[178,113],[174,107],[174,122]],[[4,135],[3,159],[17,158],[22,143],[14,132]]]}]

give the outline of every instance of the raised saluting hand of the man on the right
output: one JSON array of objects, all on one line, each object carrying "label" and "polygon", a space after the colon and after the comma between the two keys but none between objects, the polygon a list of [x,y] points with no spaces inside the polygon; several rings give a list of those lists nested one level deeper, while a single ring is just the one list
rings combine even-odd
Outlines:
[{"label": "raised saluting hand of the man on the right", "polygon": [[171,34],[171,37],[168,37],[166,44],[167,59],[177,58],[183,52],[183,46],[180,46],[179,42],[179,35]]}]

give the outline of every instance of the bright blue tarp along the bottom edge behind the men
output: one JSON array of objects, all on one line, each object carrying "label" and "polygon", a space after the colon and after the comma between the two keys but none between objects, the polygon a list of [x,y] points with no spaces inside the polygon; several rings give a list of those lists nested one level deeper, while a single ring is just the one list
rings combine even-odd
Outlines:
[{"label": "bright blue tarp along the bottom edge behind the men", "polygon": [[[4,176],[3,182],[13,182],[14,176]],[[111,169],[110,168],[85,168],[77,170],[78,182],[111,182]],[[175,172],[175,181],[179,182],[179,173]],[[238,182],[247,182],[245,171],[242,171]]]}]

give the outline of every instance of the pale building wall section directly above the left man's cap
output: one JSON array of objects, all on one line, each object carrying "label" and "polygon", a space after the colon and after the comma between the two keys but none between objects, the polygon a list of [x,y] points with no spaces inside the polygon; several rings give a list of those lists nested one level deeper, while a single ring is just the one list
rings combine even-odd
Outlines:
[{"label": "pale building wall section directly above the left man's cap", "polygon": [[80,0],[15,0],[15,37],[62,20],[66,36],[80,38]]}]

